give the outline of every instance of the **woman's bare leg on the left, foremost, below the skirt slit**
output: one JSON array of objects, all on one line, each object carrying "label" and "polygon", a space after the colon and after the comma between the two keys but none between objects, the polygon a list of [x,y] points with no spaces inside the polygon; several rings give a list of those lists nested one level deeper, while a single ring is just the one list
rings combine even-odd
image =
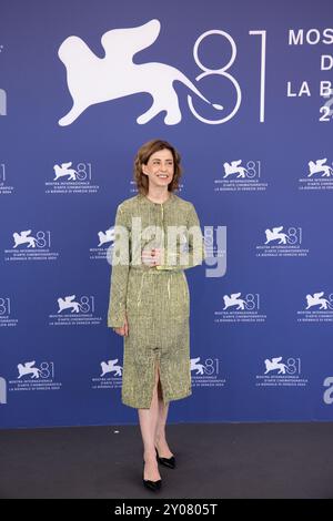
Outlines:
[{"label": "woman's bare leg on the left, foremost, below the skirt slit", "polygon": [[155,372],[155,384],[153,389],[150,409],[138,409],[141,436],[143,441],[144,479],[158,481],[161,479],[155,452],[155,432],[159,418],[158,384],[160,379],[159,370]]}]

